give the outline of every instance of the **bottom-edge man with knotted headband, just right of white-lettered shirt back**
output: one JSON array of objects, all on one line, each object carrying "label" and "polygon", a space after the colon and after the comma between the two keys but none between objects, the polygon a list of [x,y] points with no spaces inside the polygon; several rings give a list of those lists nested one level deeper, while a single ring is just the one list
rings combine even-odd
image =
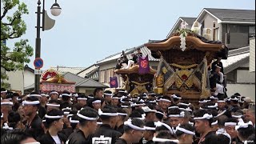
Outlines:
[{"label": "bottom-edge man with knotted headband, just right of white-lettered shirt back", "polygon": [[145,130],[145,124],[142,120],[138,118],[128,119],[124,125],[124,134],[117,139],[115,144],[132,144],[142,139]]}]

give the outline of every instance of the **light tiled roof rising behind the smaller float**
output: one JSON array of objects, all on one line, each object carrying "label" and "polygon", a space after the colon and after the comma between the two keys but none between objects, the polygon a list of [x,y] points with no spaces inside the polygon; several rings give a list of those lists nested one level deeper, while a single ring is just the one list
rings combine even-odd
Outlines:
[{"label": "light tiled roof rising behind the smaller float", "polygon": [[[152,57],[150,50],[144,45],[124,50],[125,53],[127,54],[126,55],[127,58],[131,59],[132,58],[131,54],[133,54],[134,51],[136,51],[138,49],[141,49],[141,52],[143,55],[146,55],[146,54],[149,55],[149,61],[159,61],[158,59]],[[120,58],[121,54],[122,54],[122,52],[119,52],[118,54],[110,55],[109,57],[106,57],[106,58],[102,59],[101,61],[98,61],[97,64],[101,64],[104,62],[110,62],[110,61],[114,61],[114,60],[116,61],[118,58]]]}]

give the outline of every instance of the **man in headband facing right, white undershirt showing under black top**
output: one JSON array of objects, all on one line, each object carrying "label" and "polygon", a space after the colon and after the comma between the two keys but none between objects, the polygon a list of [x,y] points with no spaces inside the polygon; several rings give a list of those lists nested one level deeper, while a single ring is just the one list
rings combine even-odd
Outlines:
[{"label": "man in headband facing right, white undershirt showing under black top", "polygon": [[50,110],[46,116],[46,134],[38,137],[41,144],[62,144],[66,142],[66,135],[60,133],[63,128],[63,112],[62,110]]}]

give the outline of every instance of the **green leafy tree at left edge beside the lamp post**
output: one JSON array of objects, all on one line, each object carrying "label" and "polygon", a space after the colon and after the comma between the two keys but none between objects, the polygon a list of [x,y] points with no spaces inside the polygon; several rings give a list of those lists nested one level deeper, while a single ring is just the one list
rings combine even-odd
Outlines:
[{"label": "green leafy tree at left edge beside the lamp post", "polygon": [[[22,20],[23,14],[29,14],[26,4],[19,0],[1,0],[1,70],[23,70],[24,63],[30,62],[33,48],[27,39],[19,39],[26,33],[26,23]],[[6,46],[9,39],[17,38],[13,48]],[[10,88],[3,80],[8,79],[1,72],[1,87]]]}]

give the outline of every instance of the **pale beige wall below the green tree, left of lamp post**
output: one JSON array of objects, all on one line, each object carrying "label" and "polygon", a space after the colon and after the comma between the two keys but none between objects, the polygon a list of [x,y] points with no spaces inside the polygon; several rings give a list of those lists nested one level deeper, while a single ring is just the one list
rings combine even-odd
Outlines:
[{"label": "pale beige wall below the green tree, left of lamp post", "polygon": [[23,70],[17,71],[6,71],[6,74],[9,77],[9,80],[5,81],[10,83],[11,90],[21,90],[22,94],[24,93],[24,77]]}]

